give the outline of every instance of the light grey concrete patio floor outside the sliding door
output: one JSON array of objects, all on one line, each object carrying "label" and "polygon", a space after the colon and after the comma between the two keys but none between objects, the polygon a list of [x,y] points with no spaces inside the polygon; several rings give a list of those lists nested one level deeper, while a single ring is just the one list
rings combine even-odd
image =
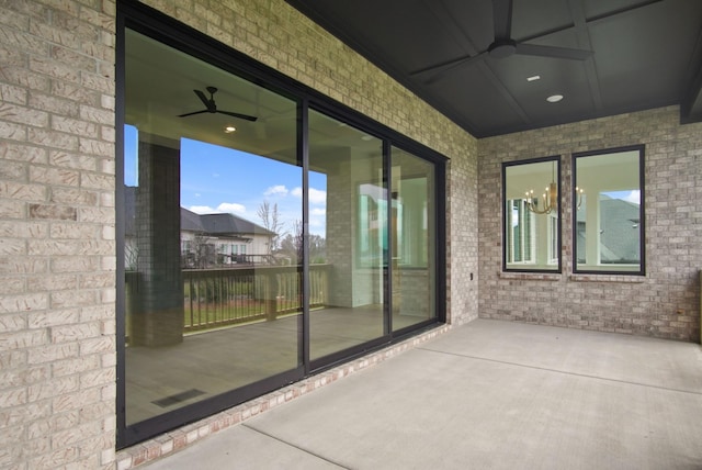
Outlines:
[{"label": "light grey concrete patio floor outside the sliding door", "polygon": [[143,468],[702,469],[702,348],[476,320]]}]

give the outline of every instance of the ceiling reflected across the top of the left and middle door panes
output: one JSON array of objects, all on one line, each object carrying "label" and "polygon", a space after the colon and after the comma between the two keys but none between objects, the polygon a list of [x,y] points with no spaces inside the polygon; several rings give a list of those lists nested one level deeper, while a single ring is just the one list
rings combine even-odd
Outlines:
[{"label": "ceiling reflected across the top of the left and middle door panes", "polygon": [[[141,139],[178,148],[185,137],[296,161],[296,101],[131,30],[125,51],[125,122],[139,130]],[[211,96],[207,87],[217,90]],[[211,97],[217,111],[254,120],[196,113],[207,108]],[[228,131],[228,126],[236,130]],[[325,155],[339,148],[381,154],[380,141],[320,113],[310,113],[309,134],[315,150]]]}]

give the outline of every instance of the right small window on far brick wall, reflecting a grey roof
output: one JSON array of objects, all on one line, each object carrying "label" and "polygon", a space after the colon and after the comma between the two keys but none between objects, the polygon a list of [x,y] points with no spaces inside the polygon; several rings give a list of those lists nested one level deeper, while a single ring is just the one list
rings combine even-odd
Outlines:
[{"label": "right small window on far brick wall, reflecting a grey roof", "polygon": [[644,275],[644,147],[573,160],[574,271]]}]

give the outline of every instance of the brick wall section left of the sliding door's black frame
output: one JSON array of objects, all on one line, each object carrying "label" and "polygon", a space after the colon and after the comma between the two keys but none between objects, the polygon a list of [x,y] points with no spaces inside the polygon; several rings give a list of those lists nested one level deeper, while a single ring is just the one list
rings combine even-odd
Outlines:
[{"label": "brick wall section left of the sliding door's black frame", "polygon": [[114,461],[114,24],[109,1],[0,7],[3,469]]}]

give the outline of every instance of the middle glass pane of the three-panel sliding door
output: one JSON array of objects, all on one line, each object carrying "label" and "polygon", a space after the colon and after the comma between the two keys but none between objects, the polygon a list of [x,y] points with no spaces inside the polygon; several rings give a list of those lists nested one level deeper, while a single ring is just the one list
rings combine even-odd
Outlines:
[{"label": "middle glass pane of the three-panel sliding door", "polygon": [[[315,360],[386,334],[383,143],[310,110],[309,170],[309,351]],[[324,242],[324,254],[315,240]],[[315,295],[326,301],[315,303]]]}]

